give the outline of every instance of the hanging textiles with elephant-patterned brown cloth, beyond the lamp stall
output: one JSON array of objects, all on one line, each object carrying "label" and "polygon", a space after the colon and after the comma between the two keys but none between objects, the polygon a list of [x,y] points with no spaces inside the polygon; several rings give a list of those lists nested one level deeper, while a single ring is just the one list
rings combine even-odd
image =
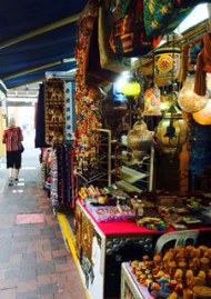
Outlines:
[{"label": "hanging textiles with elephant-patterned brown cloth, beyond the lamp stall", "polygon": [[53,210],[73,206],[71,146],[74,140],[74,83],[61,73],[48,73],[40,86],[37,107],[36,147],[41,149],[43,188]]}]

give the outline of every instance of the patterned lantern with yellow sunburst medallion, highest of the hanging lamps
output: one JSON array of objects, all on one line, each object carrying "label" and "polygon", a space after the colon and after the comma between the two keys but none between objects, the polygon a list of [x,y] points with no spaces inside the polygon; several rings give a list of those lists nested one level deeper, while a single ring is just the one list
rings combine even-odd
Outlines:
[{"label": "patterned lantern with yellow sunburst medallion, highest of the hanging lamps", "polygon": [[159,83],[170,84],[180,72],[179,48],[158,48],[154,50],[154,79]]}]

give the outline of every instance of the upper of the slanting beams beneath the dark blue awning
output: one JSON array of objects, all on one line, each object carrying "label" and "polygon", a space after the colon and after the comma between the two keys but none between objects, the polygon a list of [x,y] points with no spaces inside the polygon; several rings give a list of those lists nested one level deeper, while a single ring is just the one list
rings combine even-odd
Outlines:
[{"label": "upper of the slanting beams beneath the dark blue awning", "polygon": [[81,13],[77,13],[77,14],[73,14],[71,17],[64,18],[62,20],[59,20],[57,22],[43,26],[42,28],[38,28],[36,30],[32,30],[32,31],[30,31],[28,33],[24,33],[24,34],[18,37],[18,38],[13,38],[13,39],[0,42],[0,50],[4,49],[7,47],[10,47],[12,44],[19,43],[21,41],[26,41],[26,40],[34,38],[37,36],[40,36],[40,34],[47,33],[49,31],[56,30],[56,29],[61,28],[63,26],[73,23],[73,22],[78,21],[80,17],[81,17]]}]

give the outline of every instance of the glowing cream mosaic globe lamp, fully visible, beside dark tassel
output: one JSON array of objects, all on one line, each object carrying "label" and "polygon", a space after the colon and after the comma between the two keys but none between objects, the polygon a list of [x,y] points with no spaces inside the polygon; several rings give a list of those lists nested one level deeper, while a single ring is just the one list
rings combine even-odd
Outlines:
[{"label": "glowing cream mosaic globe lamp, fully visible, beside dark tassel", "polygon": [[188,113],[200,111],[208,102],[208,97],[197,94],[193,89],[194,76],[188,76],[184,86],[178,93],[178,104]]}]

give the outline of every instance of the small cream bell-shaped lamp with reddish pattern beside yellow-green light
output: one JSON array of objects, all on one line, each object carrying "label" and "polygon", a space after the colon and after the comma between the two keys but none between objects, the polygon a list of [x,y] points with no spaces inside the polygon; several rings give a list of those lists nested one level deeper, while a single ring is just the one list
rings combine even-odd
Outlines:
[{"label": "small cream bell-shaped lamp with reddish pattern beside yellow-green light", "polygon": [[160,89],[153,83],[153,86],[144,92],[143,116],[161,116],[160,98]]}]

